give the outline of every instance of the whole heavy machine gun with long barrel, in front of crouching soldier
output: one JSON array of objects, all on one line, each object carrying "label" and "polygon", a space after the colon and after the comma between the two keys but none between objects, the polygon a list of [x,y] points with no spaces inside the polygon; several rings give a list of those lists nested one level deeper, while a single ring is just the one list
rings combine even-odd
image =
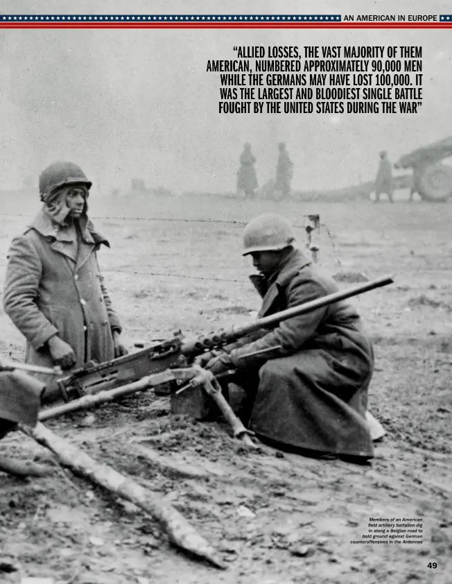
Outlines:
[{"label": "whole heavy machine gun with long barrel, in front of crouching soldier", "polygon": [[86,363],[84,367],[72,371],[49,386],[44,395],[47,402],[64,400],[67,403],[44,409],[40,413],[40,420],[48,420],[64,413],[111,402],[119,397],[151,387],[155,388],[156,395],[171,394],[172,403],[177,403],[177,396],[181,395],[182,389],[187,385],[193,385],[193,379],[200,377],[199,368],[192,365],[195,358],[206,351],[220,349],[255,332],[268,332],[283,320],[313,312],[381,286],[387,286],[393,281],[390,276],[381,277],[351,289],[258,318],[251,323],[222,329],[191,341],[184,341],[180,336],[175,336],[168,341],[156,343],[112,361],[100,364]]}]

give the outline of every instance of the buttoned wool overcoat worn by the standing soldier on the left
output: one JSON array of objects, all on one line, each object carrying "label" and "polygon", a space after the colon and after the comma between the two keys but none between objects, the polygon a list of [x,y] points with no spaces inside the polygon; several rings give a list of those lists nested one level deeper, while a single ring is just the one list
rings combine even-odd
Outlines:
[{"label": "buttoned wool overcoat worn by the standing soldier on the left", "polygon": [[46,341],[55,334],[75,352],[74,368],[114,358],[112,329],[121,331],[121,325],[97,261],[101,244],[109,244],[90,221],[80,225],[76,261],[73,241],[44,210],[12,240],[3,307],[26,338],[26,363],[53,366]]}]

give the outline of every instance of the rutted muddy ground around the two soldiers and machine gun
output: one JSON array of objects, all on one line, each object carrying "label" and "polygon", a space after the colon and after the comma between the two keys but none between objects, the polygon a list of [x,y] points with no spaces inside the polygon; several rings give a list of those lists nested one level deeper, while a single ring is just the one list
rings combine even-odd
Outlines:
[{"label": "rutted muddy ground around the two soldiers and machine gun", "polygon": [[[9,241],[27,221],[19,214],[35,208],[19,196],[2,202],[1,283]],[[187,558],[151,517],[14,433],[2,452],[42,460],[55,474],[28,482],[0,474],[0,561],[17,569],[0,572],[1,583],[23,576],[67,584],[452,582],[450,205],[93,198],[92,214],[104,217],[97,223],[112,241],[100,261],[125,342],[253,318],[259,298],[240,255],[241,223],[265,210],[293,218],[302,245],[304,215],[320,213],[329,272],[395,277],[354,301],[376,351],[370,410],[387,432],[372,465],[247,452],[224,425],[171,415],[167,398],[152,392],[98,409],[94,420],[60,418],[47,425],[171,501],[228,569]],[[0,327],[1,352],[21,358],[21,336],[3,311]],[[184,462],[184,472],[151,463],[137,445]],[[421,518],[423,542],[351,544],[370,517]],[[437,568],[428,568],[433,562]]]}]

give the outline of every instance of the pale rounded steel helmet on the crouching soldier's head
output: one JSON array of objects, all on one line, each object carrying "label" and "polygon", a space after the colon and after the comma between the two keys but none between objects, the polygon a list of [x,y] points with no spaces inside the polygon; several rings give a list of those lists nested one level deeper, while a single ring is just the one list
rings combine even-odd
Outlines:
[{"label": "pale rounded steel helmet on the crouching soldier's head", "polygon": [[242,255],[253,252],[278,251],[290,246],[295,237],[293,227],[283,216],[264,213],[252,219],[243,231]]}]

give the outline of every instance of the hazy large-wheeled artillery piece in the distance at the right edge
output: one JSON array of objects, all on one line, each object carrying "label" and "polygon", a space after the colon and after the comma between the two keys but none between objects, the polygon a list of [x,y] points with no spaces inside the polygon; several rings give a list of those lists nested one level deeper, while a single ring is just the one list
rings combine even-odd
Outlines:
[{"label": "hazy large-wheeled artillery piece in the distance at the right edge", "polygon": [[402,156],[396,169],[412,169],[410,199],[418,193],[422,200],[443,202],[452,197],[452,166],[440,162],[452,156],[452,137],[417,148]]}]

